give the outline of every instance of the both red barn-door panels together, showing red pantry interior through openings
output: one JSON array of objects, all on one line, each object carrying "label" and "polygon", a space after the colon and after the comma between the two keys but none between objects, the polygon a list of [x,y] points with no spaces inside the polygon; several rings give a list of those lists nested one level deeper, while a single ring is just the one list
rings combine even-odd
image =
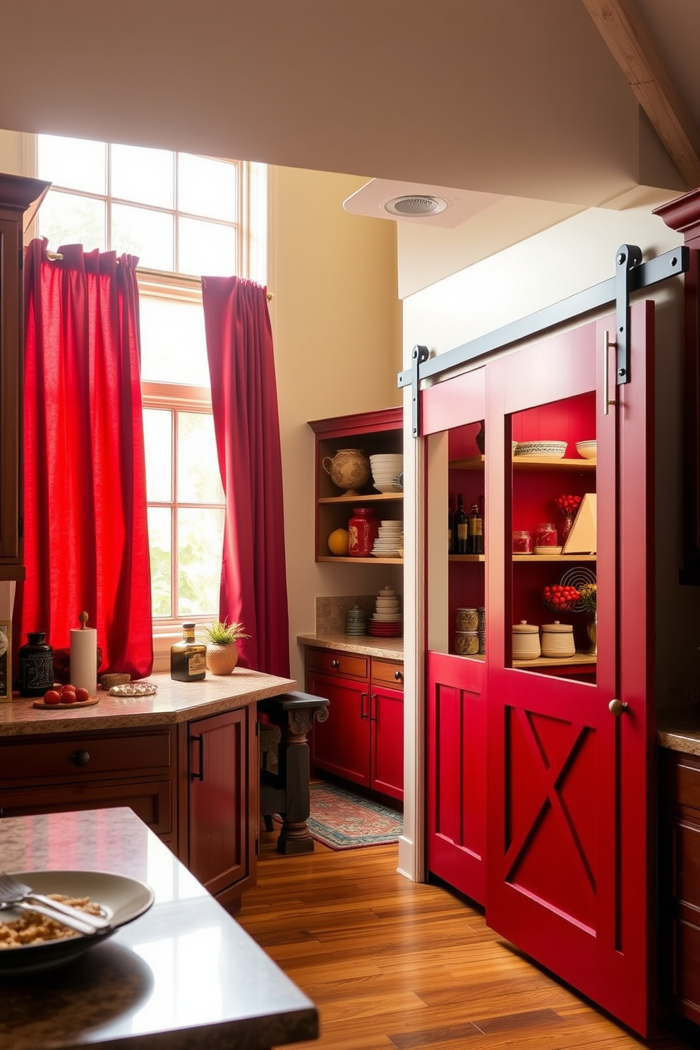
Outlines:
[{"label": "both red barn-door panels together, showing red pantry interior through openings", "polygon": [[[603,353],[614,324],[523,346],[421,394],[424,435],[448,426],[468,443],[486,421],[483,460],[475,447],[450,453],[459,471],[450,489],[455,477],[465,489],[483,485],[485,561],[445,567],[432,551],[428,560],[428,587],[431,572],[447,580],[449,607],[444,647],[428,654],[428,862],[485,903],[490,926],[645,1033],[654,964],[653,304],[632,310],[634,372],[622,386],[614,355]],[[608,378],[613,397],[603,398]],[[513,441],[535,439],[567,441],[564,459],[513,456]],[[595,462],[575,449],[591,439]],[[512,531],[552,520],[564,494],[595,497],[592,551],[513,554]],[[543,603],[545,585],[569,568],[597,580],[597,656],[586,651],[588,615]],[[449,651],[463,605],[486,608],[481,662]],[[555,618],[573,626],[576,655],[514,660],[512,625]]]}]

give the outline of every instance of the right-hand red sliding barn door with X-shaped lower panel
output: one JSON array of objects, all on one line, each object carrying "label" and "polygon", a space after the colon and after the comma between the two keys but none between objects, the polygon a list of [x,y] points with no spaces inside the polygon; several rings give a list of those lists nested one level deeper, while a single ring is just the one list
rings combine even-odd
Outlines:
[{"label": "right-hand red sliding barn door with X-shaped lower panel", "polygon": [[[604,330],[614,338],[614,318],[487,365],[486,916],[518,948],[645,1034],[654,870],[653,304],[632,311],[629,384],[616,386],[610,354],[612,405],[602,396]],[[529,670],[513,666],[511,629],[532,592],[539,595],[543,576],[533,573],[548,567],[511,555],[527,488],[527,479],[521,486],[514,478],[511,440],[548,404],[581,397],[595,406],[590,437],[597,440],[597,663],[576,673]],[[551,498],[569,485],[553,478]],[[540,602],[538,622],[554,618]]]}]

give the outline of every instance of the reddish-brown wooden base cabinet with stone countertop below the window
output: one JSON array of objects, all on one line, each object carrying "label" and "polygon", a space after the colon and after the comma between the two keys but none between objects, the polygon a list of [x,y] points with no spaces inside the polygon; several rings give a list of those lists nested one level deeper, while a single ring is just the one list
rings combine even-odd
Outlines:
[{"label": "reddish-brown wooden base cabinet with stone countertop below the window", "polygon": [[145,681],[153,696],[99,692],[86,708],[0,704],[0,816],[130,806],[220,903],[255,884],[257,702],[293,679],[230,675]]}]

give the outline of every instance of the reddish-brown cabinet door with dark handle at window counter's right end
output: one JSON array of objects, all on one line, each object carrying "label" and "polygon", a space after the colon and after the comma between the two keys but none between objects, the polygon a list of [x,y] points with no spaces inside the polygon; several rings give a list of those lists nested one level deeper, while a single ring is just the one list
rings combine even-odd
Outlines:
[{"label": "reddish-brown cabinet door with dark handle at window counter's right end", "polygon": [[254,875],[251,724],[248,708],[189,724],[188,867],[219,899]]}]

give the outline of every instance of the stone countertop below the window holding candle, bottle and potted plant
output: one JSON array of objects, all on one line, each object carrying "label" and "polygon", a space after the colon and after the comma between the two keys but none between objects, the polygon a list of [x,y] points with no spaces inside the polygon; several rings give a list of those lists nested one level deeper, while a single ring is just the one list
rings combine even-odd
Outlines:
[{"label": "stone countertop below the window holding candle, bottle and potted plant", "polygon": [[169,726],[247,707],[297,688],[291,678],[235,668],[232,674],[208,675],[201,681],[173,681],[168,672],[143,681],[157,687],[154,696],[110,696],[98,690],[100,702],[88,708],[35,708],[34,700],[16,697],[0,704],[0,737],[39,733]]}]

